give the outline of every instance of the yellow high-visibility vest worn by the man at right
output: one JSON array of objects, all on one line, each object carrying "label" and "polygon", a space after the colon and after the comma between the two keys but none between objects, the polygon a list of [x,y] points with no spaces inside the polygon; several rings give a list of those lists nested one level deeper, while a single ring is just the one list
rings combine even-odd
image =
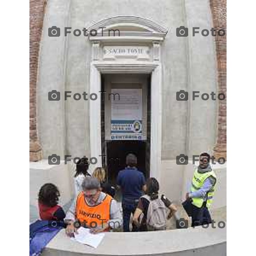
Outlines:
[{"label": "yellow high-visibility vest worn by the man at right", "polygon": [[[194,172],[194,176],[192,179],[192,185],[191,185],[191,192],[195,192],[198,189],[201,189],[201,187],[204,185],[204,181],[210,176],[215,178],[215,183],[213,184],[212,188],[207,193],[207,201],[206,201],[207,208],[209,208],[212,204],[212,198],[213,198],[214,191],[215,191],[215,185],[216,185],[216,180],[217,180],[215,173],[213,171],[200,173],[200,172],[198,172],[198,169],[196,169]],[[198,208],[201,208],[205,201],[204,199],[205,198],[192,198],[192,204]]]}]

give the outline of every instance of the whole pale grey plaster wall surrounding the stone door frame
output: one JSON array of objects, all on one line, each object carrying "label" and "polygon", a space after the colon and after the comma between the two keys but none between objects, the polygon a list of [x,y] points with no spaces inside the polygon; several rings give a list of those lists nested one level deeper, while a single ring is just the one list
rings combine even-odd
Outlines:
[{"label": "whole pale grey plaster wall surrounding the stone door frame", "polygon": [[[84,36],[49,37],[48,28],[72,29],[115,16],[136,16],[168,28],[161,47],[162,62],[162,159],[183,153],[191,157],[211,151],[217,135],[217,102],[178,102],[183,89],[210,93],[217,90],[215,43],[212,37],[176,36],[181,25],[211,28],[209,0],[51,0],[44,17],[38,73],[38,136],[44,158],[51,154],[90,156],[88,102],[48,101],[48,92],[89,91],[91,44]],[[104,6],[104,8],[99,8]],[[147,6],[148,8],[145,8]],[[93,10],[93,12],[92,12]],[[160,15],[161,14],[161,15]],[[190,106],[191,105],[191,106]],[[200,113],[200,114],[198,114]],[[201,118],[204,116],[205,118]]]}]

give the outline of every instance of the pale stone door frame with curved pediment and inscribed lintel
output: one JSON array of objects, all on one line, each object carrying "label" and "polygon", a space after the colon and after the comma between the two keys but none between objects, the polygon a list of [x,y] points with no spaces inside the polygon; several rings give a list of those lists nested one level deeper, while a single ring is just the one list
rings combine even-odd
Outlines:
[{"label": "pale stone door frame with curved pediment and inscribed lintel", "polygon": [[[118,16],[93,24],[90,29],[105,27],[104,34],[99,29],[97,36],[88,36],[91,41],[90,93],[101,91],[101,74],[140,73],[151,74],[151,137],[150,176],[160,180],[162,149],[162,63],[160,61],[161,42],[167,30],[141,17]],[[119,36],[109,36],[109,29],[120,28]],[[123,31],[122,28],[125,30]],[[127,28],[131,28],[130,30]],[[90,30],[88,29],[88,31]],[[112,60],[104,58],[105,45],[125,47],[147,45],[145,59],[119,56]],[[144,58],[143,57],[143,58]],[[90,101],[90,154],[97,157],[97,166],[102,166],[101,145],[101,101]]]}]

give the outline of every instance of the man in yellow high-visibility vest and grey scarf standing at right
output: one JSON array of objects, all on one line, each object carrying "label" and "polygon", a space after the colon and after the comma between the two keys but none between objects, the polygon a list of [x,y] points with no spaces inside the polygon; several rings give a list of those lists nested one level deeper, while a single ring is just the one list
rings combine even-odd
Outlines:
[{"label": "man in yellow high-visibility vest and grey scarf standing at right", "polygon": [[194,172],[190,192],[186,198],[191,198],[192,227],[212,222],[209,207],[216,185],[216,175],[210,164],[211,156],[204,152],[200,155],[199,166]]}]

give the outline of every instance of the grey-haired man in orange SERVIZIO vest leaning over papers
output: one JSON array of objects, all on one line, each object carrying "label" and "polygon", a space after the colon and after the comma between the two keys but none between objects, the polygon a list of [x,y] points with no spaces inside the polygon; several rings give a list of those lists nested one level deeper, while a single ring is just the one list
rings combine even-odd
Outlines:
[{"label": "grey-haired man in orange SERVIZIO vest leaning over papers", "polygon": [[86,176],[82,189],[66,215],[68,236],[78,233],[81,226],[90,228],[92,233],[122,227],[122,214],[116,200],[101,191],[97,178]]}]

